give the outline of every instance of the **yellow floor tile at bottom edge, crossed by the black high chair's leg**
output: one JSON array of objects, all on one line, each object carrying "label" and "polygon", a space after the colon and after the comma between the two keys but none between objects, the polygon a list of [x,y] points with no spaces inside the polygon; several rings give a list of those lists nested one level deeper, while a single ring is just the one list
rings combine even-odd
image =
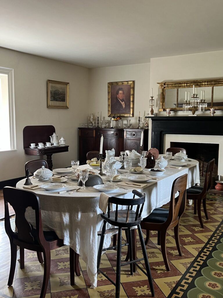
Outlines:
[{"label": "yellow floor tile at bottom edge, crossed by the black high chair's leg", "polygon": [[[90,298],[101,298],[101,297],[115,298],[114,285],[103,285],[95,289],[88,288],[87,290]],[[122,285],[120,285],[120,298],[128,298],[128,296],[125,294],[125,291]]]}]

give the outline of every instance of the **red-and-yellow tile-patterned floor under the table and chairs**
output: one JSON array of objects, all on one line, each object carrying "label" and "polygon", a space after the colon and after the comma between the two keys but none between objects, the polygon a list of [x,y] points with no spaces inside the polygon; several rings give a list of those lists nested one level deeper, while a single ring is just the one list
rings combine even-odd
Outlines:
[{"label": "red-and-yellow tile-patterned floor under the table and chairs", "polygon": [[[219,225],[223,215],[223,202],[207,201],[209,220],[202,216],[204,228],[200,227],[197,215],[193,214],[193,206],[187,204],[186,212],[180,222],[180,243],[183,255],[178,255],[173,230],[167,233],[167,258],[170,271],[166,271],[161,247],[157,244],[157,232],[151,232],[151,238],[146,246],[150,262],[152,277],[154,280],[155,295],[157,298],[165,298],[180,280],[182,274],[190,266],[210,235]],[[11,218],[14,222],[15,218]],[[137,236],[138,237],[138,236]],[[145,235],[144,235],[145,237]],[[125,242],[123,234],[123,243]],[[25,250],[25,268],[19,267],[18,262],[15,271],[15,279],[11,287],[7,286],[10,268],[10,246],[4,231],[4,221],[0,221],[0,262],[1,281],[0,297],[39,297],[43,281],[43,264],[40,264],[35,252]],[[142,250],[137,238],[137,257],[142,258]],[[122,260],[125,259],[127,247],[123,247]],[[115,280],[117,252],[107,251],[101,259],[101,270]],[[144,261],[139,263],[143,268]],[[80,258],[81,276],[75,276],[75,285],[70,285],[69,247],[63,246],[51,251],[50,282],[46,298],[115,298],[115,287],[102,274],[98,274],[98,287],[90,288],[90,280],[87,275],[86,265]],[[129,266],[121,268],[120,297],[151,297],[150,288],[145,274],[137,270],[133,276]]]}]

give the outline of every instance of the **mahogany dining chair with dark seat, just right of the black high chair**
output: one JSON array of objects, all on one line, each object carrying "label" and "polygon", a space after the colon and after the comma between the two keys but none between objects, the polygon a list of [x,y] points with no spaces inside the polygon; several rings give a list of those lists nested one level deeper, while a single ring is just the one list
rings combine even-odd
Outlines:
[{"label": "mahogany dining chair with dark seat, just right of the black high chair", "polygon": [[[186,188],[187,174],[184,174],[173,181],[169,209],[154,209],[149,216],[142,219],[140,224],[141,228],[146,230],[145,244],[148,243],[150,238],[150,231],[158,231],[158,245],[161,245],[161,252],[167,271],[170,271],[166,250],[166,236],[169,229],[174,228],[177,250],[179,255],[182,256],[180,250],[179,226],[180,218],[186,207]],[[175,198],[176,193],[178,193],[178,196]]]}]

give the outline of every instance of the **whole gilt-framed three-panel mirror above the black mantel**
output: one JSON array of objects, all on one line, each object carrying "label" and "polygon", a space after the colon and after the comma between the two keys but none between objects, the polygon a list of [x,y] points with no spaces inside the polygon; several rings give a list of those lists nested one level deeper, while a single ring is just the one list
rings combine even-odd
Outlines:
[{"label": "whole gilt-framed three-panel mirror above the black mantel", "polygon": [[[160,109],[166,111],[170,108],[172,111],[182,111],[183,104],[191,99],[193,93],[197,90],[197,97],[205,103],[204,110],[215,108],[223,110],[223,78],[190,80],[176,82],[157,83],[160,87]],[[193,90],[193,85],[195,92]],[[192,106],[189,107],[192,110]]]}]

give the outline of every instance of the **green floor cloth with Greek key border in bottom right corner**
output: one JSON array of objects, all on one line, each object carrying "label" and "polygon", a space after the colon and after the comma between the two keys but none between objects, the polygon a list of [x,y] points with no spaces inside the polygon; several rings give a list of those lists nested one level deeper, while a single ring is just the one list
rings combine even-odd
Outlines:
[{"label": "green floor cloth with Greek key border in bottom right corner", "polygon": [[223,297],[223,220],[168,298]]}]

